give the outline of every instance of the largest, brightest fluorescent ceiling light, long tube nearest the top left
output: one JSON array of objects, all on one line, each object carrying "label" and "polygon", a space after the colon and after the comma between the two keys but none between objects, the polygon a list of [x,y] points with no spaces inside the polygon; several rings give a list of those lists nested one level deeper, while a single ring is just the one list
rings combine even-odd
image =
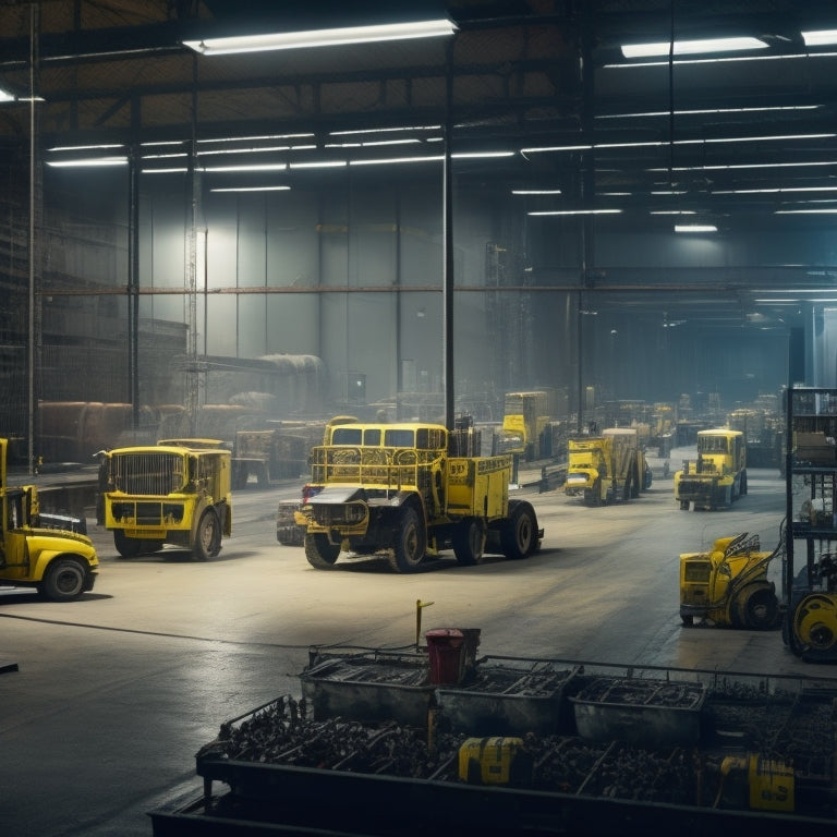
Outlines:
[{"label": "largest, brightest fluorescent ceiling light, long tube nearest the top left", "polygon": [[268,35],[244,35],[230,38],[184,40],[183,46],[204,56],[232,52],[265,52],[276,49],[333,47],[345,44],[368,44],[378,40],[408,40],[411,38],[452,35],[457,27],[448,20],[416,23],[388,23],[376,26],[345,26],[333,29],[306,32],[276,32]]}]

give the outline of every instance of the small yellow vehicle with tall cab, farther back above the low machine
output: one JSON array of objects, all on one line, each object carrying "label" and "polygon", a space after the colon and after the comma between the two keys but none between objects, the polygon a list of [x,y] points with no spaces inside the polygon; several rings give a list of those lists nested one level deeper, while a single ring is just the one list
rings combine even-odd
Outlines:
[{"label": "small yellow vehicle with tall cab, farther back above the low machine", "polygon": [[698,459],[675,473],[675,500],[683,511],[728,508],[747,494],[747,446],[740,430],[698,432]]}]

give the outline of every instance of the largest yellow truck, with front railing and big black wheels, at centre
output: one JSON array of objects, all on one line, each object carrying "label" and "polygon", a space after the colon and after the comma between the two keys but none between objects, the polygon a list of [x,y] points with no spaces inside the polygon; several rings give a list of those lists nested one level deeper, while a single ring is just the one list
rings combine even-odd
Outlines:
[{"label": "largest yellow truck, with front railing and big black wheels, at centre", "polygon": [[414,572],[451,547],[461,565],[535,553],[543,530],[531,504],[509,499],[511,457],[474,456],[475,438],[464,426],[329,423],[295,515],[311,566],[385,554],[397,572]]}]

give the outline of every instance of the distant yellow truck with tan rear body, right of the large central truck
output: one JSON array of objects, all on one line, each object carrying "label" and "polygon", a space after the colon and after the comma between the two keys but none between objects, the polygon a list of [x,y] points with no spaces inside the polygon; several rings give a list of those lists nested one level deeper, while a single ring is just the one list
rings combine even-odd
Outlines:
[{"label": "distant yellow truck with tan rear body, right of the large central truck", "polygon": [[651,487],[651,466],[640,447],[635,427],[608,427],[596,436],[567,442],[569,497],[582,495],[589,506],[627,501]]}]

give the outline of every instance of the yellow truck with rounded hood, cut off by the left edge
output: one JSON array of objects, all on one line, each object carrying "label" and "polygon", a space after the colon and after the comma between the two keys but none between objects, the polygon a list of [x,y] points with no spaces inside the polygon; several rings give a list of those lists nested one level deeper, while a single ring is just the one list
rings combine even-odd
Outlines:
[{"label": "yellow truck with rounded hood, cut off by the left edge", "polygon": [[35,587],[52,602],[93,590],[99,559],[86,521],[40,511],[34,485],[7,482],[8,439],[0,439],[0,584]]}]

